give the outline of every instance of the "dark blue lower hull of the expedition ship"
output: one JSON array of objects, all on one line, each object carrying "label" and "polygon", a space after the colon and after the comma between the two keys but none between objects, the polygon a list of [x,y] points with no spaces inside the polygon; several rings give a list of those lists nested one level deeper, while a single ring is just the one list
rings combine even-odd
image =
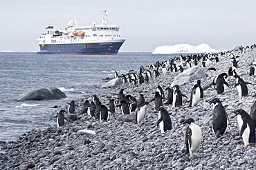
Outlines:
[{"label": "dark blue lower hull of the expedition ship", "polygon": [[40,44],[37,54],[116,55],[124,42]]}]

